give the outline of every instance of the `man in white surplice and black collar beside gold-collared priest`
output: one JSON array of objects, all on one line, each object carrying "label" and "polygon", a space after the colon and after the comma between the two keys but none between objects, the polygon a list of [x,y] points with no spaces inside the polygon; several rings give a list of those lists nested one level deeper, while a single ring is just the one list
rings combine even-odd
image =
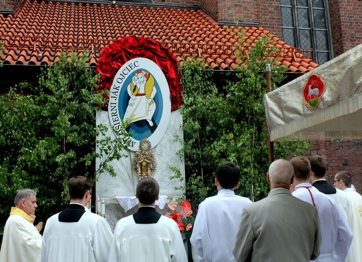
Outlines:
[{"label": "man in white surplice and black collar beside gold-collared priest", "polygon": [[91,180],[84,176],[68,181],[70,204],[46,222],[42,262],[106,262],[112,241],[107,221],[86,212],[92,194]]}]

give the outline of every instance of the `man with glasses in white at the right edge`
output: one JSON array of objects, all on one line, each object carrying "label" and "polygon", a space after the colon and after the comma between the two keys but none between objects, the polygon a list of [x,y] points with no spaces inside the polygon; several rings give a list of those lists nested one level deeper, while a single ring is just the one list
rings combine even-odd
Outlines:
[{"label": "man with glasses in white at the right edge", "polygon": [[337,173],[333,184],[336,188],[343,190],[348,198],[350,226],[353,232],[353,258],[354,261],[362,261],[362,197],[351,188],[352,176],[347,171]]}]

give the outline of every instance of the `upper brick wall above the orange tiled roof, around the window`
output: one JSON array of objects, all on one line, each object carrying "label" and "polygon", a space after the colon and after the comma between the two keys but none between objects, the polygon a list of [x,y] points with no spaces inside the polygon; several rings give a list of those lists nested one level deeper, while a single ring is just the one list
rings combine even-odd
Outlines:
[{"label": "upper brick wall above the orange tiled roof, around the window", "polygon": [[[235,17],[242,24],[260,25],[283,39],[280,0],[156,0],[157,4],[182,5],[186,7],[200,6],[219,23],[233,23]],[[294,3],[296,2],[296,3]],[[292,5],[306,2],[306,6],[314,5],[322,0],[291,1]],[[362,1],[330,0],[325,1],[326,15],[329,17],[331,50],[330,59],[362,43]],[[309,14],[310,15],[310,14]],[[285,41],[285,39],[283,39]],[[286,41],[287,42],[287,41]],[[291,43],[288,43],[291,44]],[[307,46],[295,46],[307,47]]]}]

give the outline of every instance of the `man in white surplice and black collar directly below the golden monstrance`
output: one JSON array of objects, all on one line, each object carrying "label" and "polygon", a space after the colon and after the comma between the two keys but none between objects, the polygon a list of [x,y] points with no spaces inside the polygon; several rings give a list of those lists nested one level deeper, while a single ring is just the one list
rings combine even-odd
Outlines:
[{"label": "man in white surplice and black collar directly below the golden monstrance", "polygon": [[138,211],[117,222],[108,262],[187,262],[176,222],[156,211],[159,191],[159,184],[152,177],[138,182]]}]

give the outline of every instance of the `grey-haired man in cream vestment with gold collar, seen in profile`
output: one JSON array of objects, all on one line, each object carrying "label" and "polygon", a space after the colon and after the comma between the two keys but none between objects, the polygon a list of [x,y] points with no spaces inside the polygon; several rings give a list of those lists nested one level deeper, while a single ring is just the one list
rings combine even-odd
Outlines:
[{"label": "grey-haired man in cream vestment with gold collar, seen in profile", "polygon": [[31,189],[19,190],[14,199],[5,228],[0,251],[0,262],[40,262],[42,237],[34,227],[36,192]]}]

